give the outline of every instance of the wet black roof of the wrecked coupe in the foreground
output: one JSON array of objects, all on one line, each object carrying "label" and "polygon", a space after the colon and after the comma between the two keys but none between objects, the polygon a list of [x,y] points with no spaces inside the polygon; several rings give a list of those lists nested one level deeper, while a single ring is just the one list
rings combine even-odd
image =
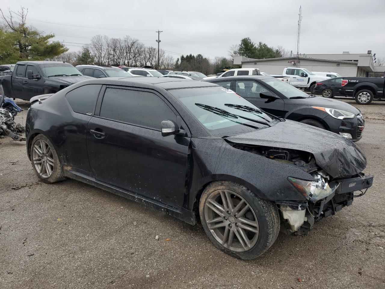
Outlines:
[{"label": "wet black roof of the wrecked coupe in the foreground", "polygon": [[[82,83],[99,83],[105,85],[135,85],[135,82],[141,82],[143,84],[148,84],[149,86],[159,86],[164,89],[178,89],[178,88],[189,88],[189,87],[209,87],[217,86],[214,83],[207,83],[203,81],[196,81],[192,79],[181,79],[181,78],[172,78],[172,77],[105,77],[105,78],[95,78]],[[148,86],[144,85],[144,88]]]}]

